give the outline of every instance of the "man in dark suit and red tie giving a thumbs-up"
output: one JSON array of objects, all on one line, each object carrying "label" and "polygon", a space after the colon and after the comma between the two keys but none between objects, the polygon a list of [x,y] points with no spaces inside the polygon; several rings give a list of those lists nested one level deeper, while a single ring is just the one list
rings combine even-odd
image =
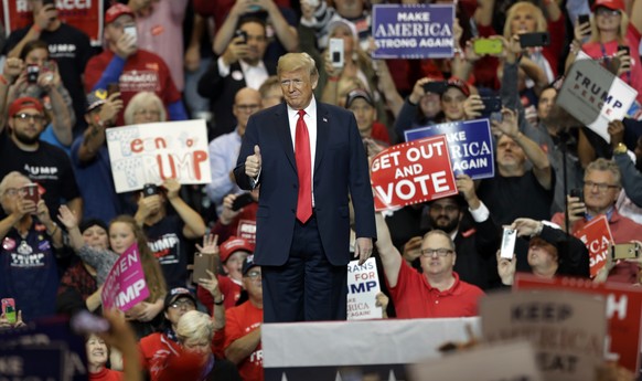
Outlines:
[{"label": "man in dark suit and red tie giving a thumbs-up", "polygon": [[249,118],[234,174],[260,186],[255,262],[263,268],[264,321],[342,320],[350,261],[376,237],[367,159],[354,115],[318,103],[319,73],[307,53],[289,53],[277,75],[285,104]]}]

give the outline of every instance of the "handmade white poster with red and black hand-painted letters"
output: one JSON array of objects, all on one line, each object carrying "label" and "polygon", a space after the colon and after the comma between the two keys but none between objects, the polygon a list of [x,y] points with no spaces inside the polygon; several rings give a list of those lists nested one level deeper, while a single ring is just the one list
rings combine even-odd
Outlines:
[{"label": "handmade white poster with red and black hand-painted letters", "polygon": [[107,148],[116,192],[161,184],[212,181],[205,120],[150,123],[107,129]]}]

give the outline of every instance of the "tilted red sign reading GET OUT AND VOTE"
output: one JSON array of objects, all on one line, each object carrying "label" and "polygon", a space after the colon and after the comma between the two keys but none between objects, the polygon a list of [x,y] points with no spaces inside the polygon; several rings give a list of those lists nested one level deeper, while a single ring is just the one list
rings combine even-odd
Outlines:
[{"label": "tilted red sign reading GET OUT AND VOTE", "polygon": [[376,211],[458,193],[443,135],[389,147],[370,169]]}]

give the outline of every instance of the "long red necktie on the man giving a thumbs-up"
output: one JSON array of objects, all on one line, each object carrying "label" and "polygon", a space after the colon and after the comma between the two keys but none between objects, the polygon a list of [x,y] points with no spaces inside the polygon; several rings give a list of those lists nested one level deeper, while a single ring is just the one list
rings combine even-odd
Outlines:
[{"label": "long red necktie on the man giving a thumbs-up", "polygon": [[303,120],[306,112],[299,110],[295,138],[295,157],[299,174],[299,201],[297,202],[297,220],[306,223],[312,215],[312,161],[310,159],[310,137],[308,126]]}]

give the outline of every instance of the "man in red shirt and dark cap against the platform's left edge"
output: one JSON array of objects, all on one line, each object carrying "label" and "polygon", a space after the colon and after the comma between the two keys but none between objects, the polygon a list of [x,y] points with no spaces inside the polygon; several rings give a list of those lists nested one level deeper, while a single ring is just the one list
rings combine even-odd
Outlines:
[{"label": "man in red shirt and dark cap against the platform's left edge", "polygon": [[245,381],[263,381],[263,324],[261,271],[249,255],[243,264],[243,288],[248,300],[225,313],[225,357],[236,363]]}]

